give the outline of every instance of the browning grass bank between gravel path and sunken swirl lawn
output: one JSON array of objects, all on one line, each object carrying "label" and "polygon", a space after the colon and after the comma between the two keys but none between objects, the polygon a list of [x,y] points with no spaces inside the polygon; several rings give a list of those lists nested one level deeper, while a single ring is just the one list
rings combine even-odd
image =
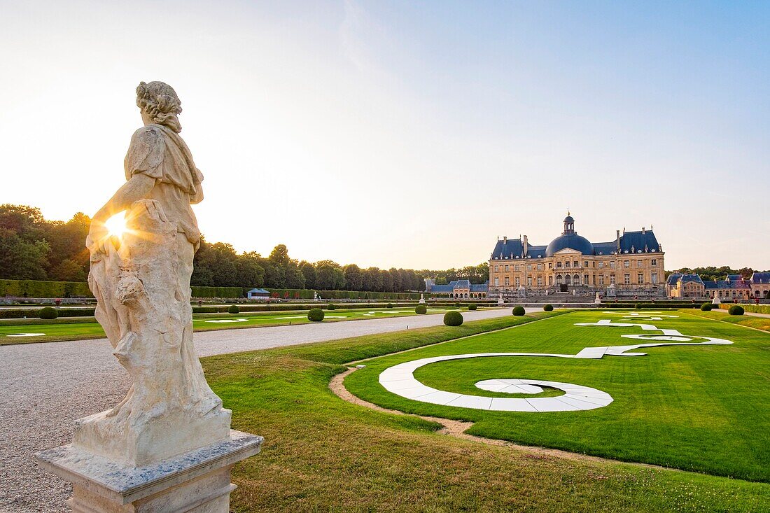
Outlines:
[{"label": "browning grass bank between gravel path and sunken swirl lawn", "polygon": [[[262,453],[234,468],[233,481],[239,488],[231,508],[239,513],[766,511],[770,485],[575,461],[458,440],[436,434],[437,424],[356,406],[328,388],[330,379],[345,369],[340,360],[378,356],[527,320],[502,317],[457,328],[204,358],[209,384],[233,409],[233,428],[265,437]],[[467,343],[484,337],[469,338]],[[454,343],[432,349],[448,344]],[[427,348],[411,354],[423,350]],[[363,373],[352,376],[359,372]]]}]

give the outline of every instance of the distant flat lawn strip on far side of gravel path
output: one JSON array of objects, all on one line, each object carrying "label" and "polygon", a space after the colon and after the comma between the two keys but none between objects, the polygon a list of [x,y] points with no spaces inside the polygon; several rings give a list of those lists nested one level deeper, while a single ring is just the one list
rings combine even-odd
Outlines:
[{"label": "distant flat lawn strip on far side of gravel path", "polygon": [[[429,307],[427,314],[444,314],[449,310],[467,308]],[[324,310],[323,322],[338,320],[376,319],[378,317],[406,317],[416,315],[413,307],[373,308],[349,310]],[[287,324],[308,324],[307,310],[284,312],[259,312],[247,314],[200,314],[193,315],[192,325],[196,331],[225,330],[244,327],[284,326]],[[5,320],[0,322],[0,345],[27,344],[31,342],[60,342],[104,337],[104,330],[95,321],[82,322],[77,317],[57,319],[55,323],[28,324],[29,320]],[[69,322],[67,322],[69,321]],[[34,337],[8,337],[15,334],[40,334]]]}]

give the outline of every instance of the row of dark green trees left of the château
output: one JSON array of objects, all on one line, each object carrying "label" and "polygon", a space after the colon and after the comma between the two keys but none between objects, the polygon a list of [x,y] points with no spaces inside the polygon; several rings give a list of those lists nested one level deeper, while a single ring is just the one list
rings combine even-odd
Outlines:
[{"label": "row of dark green trees left of the ch\u00e2teau", "polygon": [[[66,222],[45,220],[39,208],[0,205],[0,279],[85,281],[89,252],[85,236],[91,219],[76,213]],[[238,253],[229,243],[201,238],[190,283],[204,287],[268,287],[276,289],[363,290],[403,292],[424,290],[424,280],[436,283],[489,279],[487,263],[448,270],[380,269],[340,265],[333,260],[310,263],[289,256],[277,245],[269,256]]]}]

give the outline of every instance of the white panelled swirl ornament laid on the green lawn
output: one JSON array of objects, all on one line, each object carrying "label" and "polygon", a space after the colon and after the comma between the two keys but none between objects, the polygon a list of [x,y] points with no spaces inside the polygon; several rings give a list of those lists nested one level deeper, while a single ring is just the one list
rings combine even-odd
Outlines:
[{"label": "white panelled swirl ornament laid on the green lawn", "polygon": [[[614,312],[608,312],[614,314]],[[648,320],[644,314],[656,314],[644,312],[634,316],[636,320]],[[641,317],[641,318],[640,318]],[[676,317],[676,316],[666,316]],[[479,381],[476,387],[481,390],[509,393],[509,394],[540,394],[542,387],[551,387],[564,391],[564,395],[556,397],[484,397],[480,395],[457,394],[455,392],[440,391],[422,384],[414,377],[414,371],[429,364],[435,364],[448,360],[463,360],[467,358],[485,357],[557,357],[557,358],[581,358],[599,359],[608,356],[644,356],[645,353],[632,353],[629,351],[641,347],[659,346],[697,346],[708,344],[732,344],[730,340],[715,337],[700,337],[683,335],[678,330],[661,329],[652,324],[614,323],[610,319],[602,319],[595,323],[576,323],[575,326],[594,327],[641,327],[643,331],[660,331],[661,334],[626,334],[624,338],[634,340],[654,340],[648,344],[634,344],[626,346],[586,347],[577,354],[547,354],[547,353],[469,353],[450,354],[447,356],[421,358],[403,364],[393,365],[380,373],[380,384],[389,392],[413,401],[439,404],[441,406],[466,407],[487,411],[585,411],[594,410],[611,404],[610,394],[596,388],[584,387],[579,384],[561,383],[557,381],[541,381],[528,379],[489,379]],[[700,342],[691,340],[700,339]]]}]

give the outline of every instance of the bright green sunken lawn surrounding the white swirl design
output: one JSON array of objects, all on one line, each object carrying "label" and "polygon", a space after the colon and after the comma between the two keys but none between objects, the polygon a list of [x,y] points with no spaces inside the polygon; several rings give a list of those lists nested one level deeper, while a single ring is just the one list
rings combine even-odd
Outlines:
[{"label": "bright green sunken lawn surrounding the white swirl design", "polygon": [[[524,413],[439,406],[391,394],[378,382],[394,364],[423,357],[484,352],[577,354],[584,347],[641,344],[621,334],[638,327],[577,327],[618,312],[575,311],[511,330],[365,362],[346,378],[353,394],[380,406],[474,421],[470,434],[640,461],[721,476],[770,481],[770,334],[679,312],[644,322],[682,334],[721,337],[732,345],[651,347],[648,356],[601,360],[485,357],[430,364],[415,372],[441,391],[490,397],[474,386],[494,378],[562,381],[598,388],[614,401],[590,411]],[[698,340],[695,340],[698,341]],[[549,394],[553,394],[550,391]],[[522,397],[522,396],[517,396]],[[526,396],[537,397],[537,396]]]}]

